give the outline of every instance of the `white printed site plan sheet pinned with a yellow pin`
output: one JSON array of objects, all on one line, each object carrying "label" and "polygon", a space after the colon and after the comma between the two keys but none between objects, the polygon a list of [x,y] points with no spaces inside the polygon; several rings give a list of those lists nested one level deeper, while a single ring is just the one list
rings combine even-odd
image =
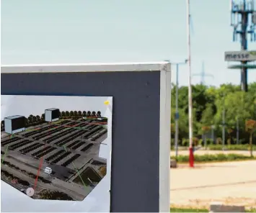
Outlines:
[{"label": "white printed site plan sheet pinned with a yellow pin", "polygon": [[110,212],[112,97],[1,96],[1,212]]}]

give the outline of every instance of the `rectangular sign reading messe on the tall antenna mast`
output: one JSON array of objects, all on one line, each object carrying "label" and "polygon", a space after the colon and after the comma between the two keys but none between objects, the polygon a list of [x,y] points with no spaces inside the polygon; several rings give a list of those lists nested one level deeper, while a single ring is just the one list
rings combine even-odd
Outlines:
[{"label": "rectangular sign reading messe on the tall antenna mast", "polygon": [[225,52],[226,61],[253,61],[256,60],[256,51],[231,51]]}]

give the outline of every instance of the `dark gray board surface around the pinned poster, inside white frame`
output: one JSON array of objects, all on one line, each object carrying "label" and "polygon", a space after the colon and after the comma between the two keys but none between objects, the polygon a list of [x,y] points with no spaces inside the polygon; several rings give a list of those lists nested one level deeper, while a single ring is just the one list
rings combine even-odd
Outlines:
[{"label": "dark gray board surface around the pinned poster, inside white frame", "polygon": [[111,212],[159,212],[160,72],[1,74],[2,95],[113,96]]}]

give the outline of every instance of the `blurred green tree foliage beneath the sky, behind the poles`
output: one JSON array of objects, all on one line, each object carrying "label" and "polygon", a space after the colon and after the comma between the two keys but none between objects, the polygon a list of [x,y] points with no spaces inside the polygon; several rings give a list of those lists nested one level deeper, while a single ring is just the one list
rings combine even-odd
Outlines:
[{"label": "blurred green tree foliage beneath the sky, behind the poles", "polygon": [[[176,86],[172,84],[171,124],[175,124],[175,94]],[[179,138],[188,137],[188,89],[187,86],[179,88]],[[249,142],[245,121],[256,120],[256,82],[250,83],[249,91],[241,91],[239,86],[223,84],[219,87],[193,86],[193,134],[195,137],[211,131],[215,127],[216,137],[221,137],[223,114],[225,115],[226,134],[230,138],[236,137],[237,122],[239,124],[240,138]],[[226,137],[228,139],[228,137]]]}]

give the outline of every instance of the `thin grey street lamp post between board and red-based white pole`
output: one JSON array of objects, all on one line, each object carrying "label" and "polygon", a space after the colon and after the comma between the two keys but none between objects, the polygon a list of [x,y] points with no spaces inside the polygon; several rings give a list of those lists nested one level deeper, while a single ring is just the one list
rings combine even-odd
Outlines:
[{"label": "thin grey street lamp post between board and red-based white pole", "polygon": [[176,64],[176,95],[175,95],[175,155],[178,156],[178,140],[179,140],[179,66],[185,65],[187,60],[182,63],[174,63]]}]

